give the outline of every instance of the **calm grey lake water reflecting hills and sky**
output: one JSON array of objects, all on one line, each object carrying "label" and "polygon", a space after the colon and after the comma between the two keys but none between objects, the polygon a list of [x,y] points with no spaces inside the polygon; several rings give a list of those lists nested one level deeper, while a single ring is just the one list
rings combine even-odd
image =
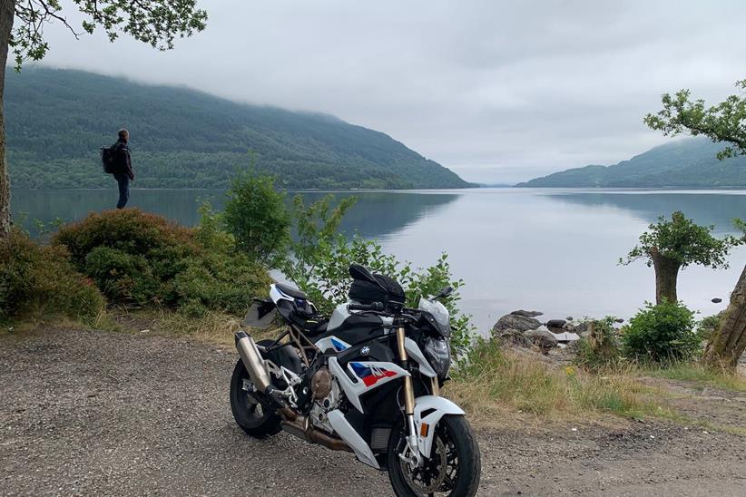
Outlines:
[{"label": "calm grey lake water reflecting hills and sky", "polygon": [[[315,200],[320,193],[304,193]],[[339,197],[350,193],[338,193]],[[746,218],[746,190],[439,190],[356,192],[359,200],[343,229],[380,239],[398,258],[429,265],[447,251],[454,274],[466,281],[462,307],[482,329],[516,308],[546,317],[631,316],[654,298],[653,269],[617,260],[659,215],[682,210],[701,224],[732,232]],[[133,190],[132,205],[182,224],[197,222],[196,208],[222,192]],[[14,215],[44,222],[82,219],[113,206],[113,190],[15,190]],[[727,300],[746,264],[746,249],[731,268],[687,268],[679,279],[686,304],[712,314]]]}]

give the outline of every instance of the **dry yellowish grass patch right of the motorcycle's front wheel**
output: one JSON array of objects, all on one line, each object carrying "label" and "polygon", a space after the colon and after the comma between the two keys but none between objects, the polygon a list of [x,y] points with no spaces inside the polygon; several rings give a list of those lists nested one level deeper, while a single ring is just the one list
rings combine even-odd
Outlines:
[{"label": "dry yellowish grass patch right of the motorcycle's front wheel", "polygon": [[480,420],[506,411],[541,419],[594,419],[603,414],[626,418],[676,414],[655,395],[656,389],[620,373],[586,374],[574,366],[559,369],[536,356],[500,348],[495,341],[477,344],[468,365],[453,374],[446,395]]}]

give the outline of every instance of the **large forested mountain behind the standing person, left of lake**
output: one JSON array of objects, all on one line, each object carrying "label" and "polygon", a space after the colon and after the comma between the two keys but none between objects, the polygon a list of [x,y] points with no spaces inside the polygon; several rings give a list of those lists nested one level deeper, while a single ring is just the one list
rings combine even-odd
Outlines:
[{"label": "large forested mountain behind the standing person, left of lake", "polygon": [[285,189],[470,186],[388,135],[336,117],[80,71],[9,70],[5,122],[17,188],[111,187],[99,149],[122,127],[139,188],[224,188],[252,156]]}]

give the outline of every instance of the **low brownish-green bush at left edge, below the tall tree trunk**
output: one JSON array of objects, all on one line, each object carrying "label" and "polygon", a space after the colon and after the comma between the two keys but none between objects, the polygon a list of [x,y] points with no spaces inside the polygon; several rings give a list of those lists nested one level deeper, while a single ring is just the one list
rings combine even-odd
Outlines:
[{"label": "low brownish-green bush at left edge, below the tall tree trunk", "polygon": [[17,229],[0,241],[0,320],[42,313],[90,319],[104,304],[65,248],[42,247]]}]

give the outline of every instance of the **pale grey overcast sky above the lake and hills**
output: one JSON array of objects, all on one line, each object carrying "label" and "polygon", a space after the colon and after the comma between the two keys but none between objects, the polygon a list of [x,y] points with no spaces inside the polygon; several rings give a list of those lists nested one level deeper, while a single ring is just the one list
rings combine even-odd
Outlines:
[{"label": "pale grey overcast sky above the lake and hills", "polygon": [[52,25],[44,63],[331,113],[483,182],[622,161],[666,140],[642,123],[661,93],[746,78],[741,0],[198,4],[172,52]]}]

